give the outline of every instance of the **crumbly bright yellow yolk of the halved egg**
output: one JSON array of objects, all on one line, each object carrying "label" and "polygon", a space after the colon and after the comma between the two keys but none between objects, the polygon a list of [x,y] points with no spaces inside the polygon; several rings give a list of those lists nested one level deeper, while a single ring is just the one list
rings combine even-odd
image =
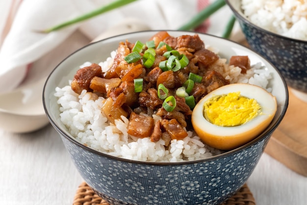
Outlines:
[{"label": "crumbly bright yellow yolk of the halved egg", "polygon": [[204,104],[205,119],[217,126],[235,127],[254,119],[261,112],[255,99],[240,96],[240,92],[215,96]]}]

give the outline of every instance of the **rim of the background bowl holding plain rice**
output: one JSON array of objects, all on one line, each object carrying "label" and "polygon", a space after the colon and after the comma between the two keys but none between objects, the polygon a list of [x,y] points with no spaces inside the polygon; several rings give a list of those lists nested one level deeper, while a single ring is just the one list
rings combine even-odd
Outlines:
[{"label": "rim of the background bowl holding plain rice", "polygon": [[[242,20],[243,22],[245,22],[246,24],[251,25],[251,26],[255,27],[255,28],[258,29],[258,30],[261,30],[261,31],[264,32],[264,33],[270,34],[270,35],[272,35],[272,36],[275,36],[275,37],[278,37],[278,38],[281,38],[281,39],[284,39],[284,40],[294,41],[294,42],[297,42],[297,43],[307,43],[307,40],[302,40],[302,39],[296,39],[296,38],[290,38],[290,37],[287,37],[287,36],[283,36],[283,35],[281,35],[281,34],[274,33],[274,32],[272,32],[272,31],[266,30],[266,29],[264,29],[264,28],[262,28],[262,27],[260,27],[260,26],[255,25],[254,23],[252,23],[251,21],[249,21],[249,20],[247,19],[247,17],[245,17],[245,16],[241,15],[239,12],[237,12],[237,10],[236,10],[236,9],[234,8],[234,6],[233,6],[233,0],[225,0],[225,1],[226,1],[226,3],[228,4],[228,6],[230,7],[230,9],[232,10],[233,14],[234,14],[237,18],[239,18],[240,20]],[[242,0],[239,0],[240,5],[242,4],[241,1],[242,1]]]}]

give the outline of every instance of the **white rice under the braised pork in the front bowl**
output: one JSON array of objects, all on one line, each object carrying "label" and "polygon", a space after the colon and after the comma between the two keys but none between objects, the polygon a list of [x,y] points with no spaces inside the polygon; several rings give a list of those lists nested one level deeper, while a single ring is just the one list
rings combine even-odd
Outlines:
[{"label": "white rice under the braised pork in the front bowl", "polygon": [[[115,51],[105,62],[99,63],[106,71],[113,63]],[[80,68],[90,65],[84,63]],[[228,66],[226,59],[216,62],[216,69],[231,83],[243,82],[259,85],[268,91],[270,74],[260,64],[256,64],[246,75],[241,74],[238,67]],[[68,82],[70,84],[70,82]],[[82,144],[102,153],[119,156],[126,159],[154,162],[179,162],[207,158],[221,154],[221,151],[205,145],[194,132],[188,131],[183,140],[172,140],[165,148],[165,141],[151,142],[150,138],[137,138],[127,133],[128,119],[122,116],[121,120],[109,123],[101,111],[103,98],[86,90],[78,95],[70,85],[55,89],[55,96],[60,108],[60,120],[68,131]],[[153,115],[155,120],[160,117]]]}]

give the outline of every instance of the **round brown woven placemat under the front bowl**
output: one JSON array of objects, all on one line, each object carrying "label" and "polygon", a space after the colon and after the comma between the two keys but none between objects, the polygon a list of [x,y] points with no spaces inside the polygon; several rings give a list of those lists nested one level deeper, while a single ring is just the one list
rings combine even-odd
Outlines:
[{"label": "round brown woven placemat under the front bowl", "polygon": [[[73,205],[109,205],[100,196],[87,185],[82,182],[74,198]],[[252,192],[246,184],[239,191],[221,205],[256,205]]]}]

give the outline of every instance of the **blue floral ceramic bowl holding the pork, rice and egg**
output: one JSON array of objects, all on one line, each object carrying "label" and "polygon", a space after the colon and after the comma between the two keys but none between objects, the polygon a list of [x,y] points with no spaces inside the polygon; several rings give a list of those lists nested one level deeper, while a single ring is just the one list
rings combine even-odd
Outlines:
[{"label": "blue floral ceramic bowl holding the pork, rice and egg", "polygon": [[[200,34],[202,40],[220,51],[220,55],[249,55],[251,62],[261,62],[272,72],[272,94],[278,102],[277,114],[270,126],[252,142],[229,152],[202,160],[157,163],[141,162],[102,154],[79,143],[59,119],[59,106],[53,96],[74,77],[85,61],[101,62],[118,47],[120,41],[146,42],[157,31],[119,35],[92,43],[63,60],[48,77],[43,94],[46,114],[63,140],[82,178],[112,205],[210,204],[228,199],[252,174],[263,150],[280,124],[288,104],[286,84],[280,73],[263,57],[226,39]],[[192,32],[168,31],[172,36]],[[65,174],[65,173],[63,173]],[[67,173],[66,173],[67,174]]]}]

